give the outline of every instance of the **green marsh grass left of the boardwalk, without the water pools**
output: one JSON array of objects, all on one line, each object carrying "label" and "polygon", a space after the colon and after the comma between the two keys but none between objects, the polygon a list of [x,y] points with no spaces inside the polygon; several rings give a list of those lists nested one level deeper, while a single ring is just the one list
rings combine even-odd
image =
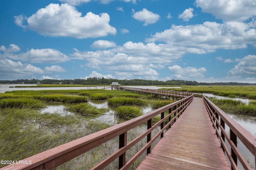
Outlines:
[{"label": "green marsh grass left of the boardwalk, without the water pools", "polygon": [[[39,101],[44,106],[47,106],[48,102],[62,102],[68,109],[73,109],[77,113],[72,115],[61,115],[58,112],[54,114],[41,113],[37,107],[27,107],[29,105],[22,108],[4,107],[0,109],[0,158],[3,160],[22,160],[110,127],[107,122],[92,119],[104,114],[107,109],[98,109],[88,104],[88,98],[92,99],[91,96],[99,96],[95,97],[99,100],[101,100],[101,96],[108,96],[108,100],[111,100],[112,97],[120,100],[121,96],[121,100],[124,98],[126,102],[120,103],[126,107],[136,107],[139,115],[142,114],[141,107],[148,106],[148,102],[143,99],[149,98],[146,95],[138,97],[140,95],[120,90],[20,90],[0,94],[0,101],[5,99],[16,101],[17,99],[26,98],[30,102]],[[32,105],[36,106],[35,104]],[[114,104],[114,106],[117,109],[117,105]],[[133,109],[132,113],[136,113],[136,110]],[[87,115],[87,113],[92,113],[92,115]],[[124,119],[138,116],[132,115],[132,113],[127,117],[124,116]],[[86,114],[86,116],[83,114]],[[140,128],[135,133],[136,135],[140,134]],[[136,154],[142,143],[129,150],[127,155]],[[66,162],[56,169],[90,169],[117,149],[118,137]],[[132,167],[135,168],[140,161],[137,160]],[[0,165],[0,167],[2,166],[4,165]],[[117,169],[118,161],[115,160],[107,168]]]}]

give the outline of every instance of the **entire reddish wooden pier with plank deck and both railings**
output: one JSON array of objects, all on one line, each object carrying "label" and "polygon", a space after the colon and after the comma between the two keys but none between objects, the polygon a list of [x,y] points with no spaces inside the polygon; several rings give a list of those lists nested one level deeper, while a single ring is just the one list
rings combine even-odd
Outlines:
[{"label": "entire reddish wooden pier with plank deck and both railings", "polygon": [[[150,89],[145,93],[150,92],[158,93]],[[172,104],[22,160],[31,164],[11,164],[1,170],[53,169],[116,137],[119,137],[119,149],[92,169],[101,170],[116,159],[119,169],[128,169],[144,152],[147,156],[137,169],[237,170],[238,162],[244,169],[252,169],[238,149],[237,142],[239,139],[256,162],[256,137],[204,96],[197,98],[195,94],[187,93],[186,96],[185,93],[175,94],[181,99]],[[153,124],[153,118],[159,116],[160,121]],[[130,129],[145,124],[146,131],[132,141],[127,140]],[[160,130],[152,136],[152,131],[158,127]],[[229,134],[225,127],[230,129]],[[153,147],[158,137],[160,140]],[[126,151],[144,138],[147,141],[145,145],[130,160],[126,160]]]}]

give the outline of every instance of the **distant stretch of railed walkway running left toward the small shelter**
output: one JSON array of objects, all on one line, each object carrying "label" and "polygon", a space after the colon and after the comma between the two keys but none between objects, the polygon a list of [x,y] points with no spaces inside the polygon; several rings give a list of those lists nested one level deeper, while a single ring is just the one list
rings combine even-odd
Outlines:
[{"label": "distant stretch of railed walkway running left toward the small shelter", "polygon": [[115,87],[117,90],[128,90],[134,92],[142,92],[142,93],[150,93],[150,94],[158,94],[162,96],[173,96],[176,98],[185,98],[187,96],[191,96],[194,94],[195,97],[202,97],[202,93],[194,93],[194,92],[181,92],[181,91],[173,91],[173,90],[156,90],[156,89],[144,89],[144,88],[132,88],[132,87],[124,87],[117,86]]}]

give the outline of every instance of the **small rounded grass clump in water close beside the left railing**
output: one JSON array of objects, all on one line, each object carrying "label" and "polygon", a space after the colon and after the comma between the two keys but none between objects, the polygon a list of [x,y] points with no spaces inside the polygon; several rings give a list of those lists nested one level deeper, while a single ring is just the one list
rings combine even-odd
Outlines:
[{"label": "small rounded grass clump in water close beside the left railing", "polygon": [[142,115],[142,111],[136,106],[119,106],[116,108],[116,115],[126,121]]}]

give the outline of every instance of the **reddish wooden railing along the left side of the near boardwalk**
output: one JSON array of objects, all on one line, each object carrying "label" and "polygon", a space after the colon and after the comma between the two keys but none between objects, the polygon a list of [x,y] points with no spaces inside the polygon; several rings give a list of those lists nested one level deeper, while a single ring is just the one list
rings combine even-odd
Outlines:
[{"label": "reddish wooden railing along the left side of the near boardwalk", "polygon": [[[2,169],[11,169],[11,170],[20,170],[20,169],[53,169],[65,162],[76,158],[80,154],[83,154],[95,147],[98,147],[102,143],[105,143],[115,137],[119,136],[119,150],[108,156],[108,158],[102,160],[99,164],[94,166],[95,170],[103,169],[108,166],[111,162],[113,162],[116,158],[119,157],[119,169],[127,169],[130,167],[138,157],[147,150],[147,154],[151,152],[152,143],[160,136],[163,137],[164,130],[170,128],[172,123],[176,121],[182,112],[188,107],[188,105],[192,102],[194,95],[188,96],[182,100],[178,100],[172,104],[168,104],[164,107],[136,117],[134,119],[125,121],[118,125],[109,127],[102,131],[98,131],[91,135],[87,135],[80,139],[76,139],[64,145],[60,145],[50,150],[46,150],[29,158],[22,160],[23,162],[30,162],[31,164],[11,164],[5,166]],[[164,116],[164,112],[168,111],[168,115]],[[156,124],[152,124],[153,118],[161,115],[161,120]],[[171,115],[174,117],[171,119]],[[164,121],[168,119],[168,123],[164,125]],[[133,139],[130,143],[127,143],[127,131],[137,127],[138,125],[142,125],[147,122],[148,129]],[[151,137],[151,132],[156,129],[160,125],[161,130],[154,136]],[[147,143],[142,147],[142,149],[136,153],[130,160],[126,162],[125,154],[128,149],[142,140],[144,137],[147,137]]]}]

